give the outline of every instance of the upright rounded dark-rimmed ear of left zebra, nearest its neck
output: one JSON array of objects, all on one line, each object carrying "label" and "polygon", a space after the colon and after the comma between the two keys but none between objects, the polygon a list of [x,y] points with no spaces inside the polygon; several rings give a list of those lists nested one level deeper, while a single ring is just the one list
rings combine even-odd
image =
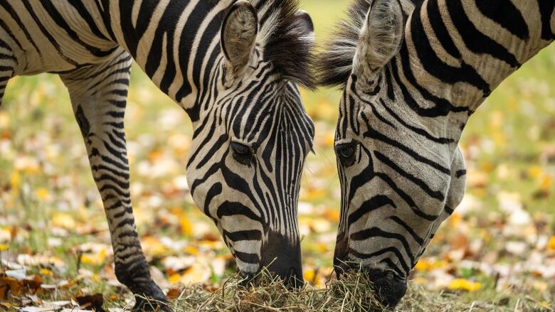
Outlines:
[{"label": "upright rounded dark-rimmed ear of left zebra, nearest its neck", "polygon": [[223,18],[221,48],[226,56],[228,75],[237,77],[248,65],[258,34],[258,16],[250,2],[239,0]]}]

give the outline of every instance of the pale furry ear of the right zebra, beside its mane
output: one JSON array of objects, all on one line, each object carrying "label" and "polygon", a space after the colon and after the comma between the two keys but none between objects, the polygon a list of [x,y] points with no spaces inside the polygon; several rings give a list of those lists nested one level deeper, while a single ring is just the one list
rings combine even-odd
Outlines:
[{"label": "pale furry ear of the right zebra, beside its mane", "polygon": [[401,48],[404,36],[403,8],[399,0],[374,0],[359,36],[353,72],[361,82],[374,82]]}]

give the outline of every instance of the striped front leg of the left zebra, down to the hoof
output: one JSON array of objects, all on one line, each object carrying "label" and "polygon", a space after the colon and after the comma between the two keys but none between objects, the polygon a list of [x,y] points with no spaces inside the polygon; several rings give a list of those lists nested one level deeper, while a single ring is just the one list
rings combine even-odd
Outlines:
[{"label": "striped front leg of the left zebra, down to the hoof", "polygon": [[[144,297],[167,302],[152,281],[141,249],[129,195],[124,114],[132,60],[125,52],[109,63],[62,75],[100,190],[114,249],[115,274],[135,294],[135,310],[157,310]],[[153,302],[151,301],[151,302]],[[168,309],[162,304],[163,309]]]}]

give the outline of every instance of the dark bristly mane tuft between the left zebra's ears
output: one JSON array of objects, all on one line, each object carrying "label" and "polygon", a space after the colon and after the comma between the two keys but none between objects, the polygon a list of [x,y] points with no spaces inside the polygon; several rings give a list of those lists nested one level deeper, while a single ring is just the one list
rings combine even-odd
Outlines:
[{"label": "dark bristly mane tuft between the left zebra's ears", "polygon": [[258,43],[264,47],[264,59],[273,64],[282,77],[314,89],[317,85],[312,64],[314,41],[296,23],[298,0],[250,0],[260,18]]}]

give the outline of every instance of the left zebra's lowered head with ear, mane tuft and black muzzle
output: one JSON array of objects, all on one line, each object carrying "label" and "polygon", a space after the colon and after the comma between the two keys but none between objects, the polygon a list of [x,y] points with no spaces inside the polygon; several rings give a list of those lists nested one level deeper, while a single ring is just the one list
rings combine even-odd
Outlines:
[{"label": "left zebra's lowered head with ear, mane tuft and black muzzle", "polygon": [[314,86],[313,26],[296,1],[236,1],[194,122],[187,179],[249,277],[302,283],[297,200],[314,125],[297,84]]}]

